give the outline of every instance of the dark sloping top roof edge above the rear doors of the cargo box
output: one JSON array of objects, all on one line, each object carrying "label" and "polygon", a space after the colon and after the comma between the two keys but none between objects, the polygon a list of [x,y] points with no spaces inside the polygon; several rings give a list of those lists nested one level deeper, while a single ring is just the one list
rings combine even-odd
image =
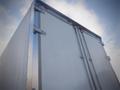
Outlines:
[{"label": "dark sloping top roof edge above the rear doors of the cargo box", "polygon": [[45,9],[48,9],[52,12],[55,12],[57,15],[59,15],[60,17],[66,19],[68,22],[71,22],[73,25],[79,26],[81,29],[85,30],[86,32],[91,33],[92,35],[94,35],[95,37],[101,39],[101,37],[95,33],[93,33],[92,31],[90,31],[89,29],[85,28],[84,26],[80,25],[78,22],[76,22],[75,20],[69,18],[68,16],[64,15],[63,13],[59,12],[58,10],[56,10],[55,8],[49,6],[48,4],[44,3],[41,0],[36,0],[35,4],[39,4],[41,6],[43,6]]}]

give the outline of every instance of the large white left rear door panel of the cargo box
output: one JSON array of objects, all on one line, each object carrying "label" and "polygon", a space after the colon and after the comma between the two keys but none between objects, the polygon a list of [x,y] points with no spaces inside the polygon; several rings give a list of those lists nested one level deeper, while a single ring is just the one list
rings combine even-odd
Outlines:
[{"label": "large white left rear door panel of the cargo box", "polygon": [[43,90],[90,90],[72,26],[41,14],[41,65]]}]

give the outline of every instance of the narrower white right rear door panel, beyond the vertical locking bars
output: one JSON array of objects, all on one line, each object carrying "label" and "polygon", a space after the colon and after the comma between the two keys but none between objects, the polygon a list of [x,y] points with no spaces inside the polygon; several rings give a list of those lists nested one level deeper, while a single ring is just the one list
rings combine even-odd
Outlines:
[{"label": "narrower white right rear door panel, beyond the vertical locking bars", "polygon": [[119,90],[110,62],[99,39],[83,33],[102,90]]}]

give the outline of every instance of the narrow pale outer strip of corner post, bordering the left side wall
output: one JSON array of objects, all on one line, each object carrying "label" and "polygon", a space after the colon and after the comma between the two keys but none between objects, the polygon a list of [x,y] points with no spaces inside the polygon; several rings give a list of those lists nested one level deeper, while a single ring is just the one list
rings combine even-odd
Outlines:
[{"label": "narrow pale outer strip of corner post, bordering the left side wall", "polygon": [[29,9],[30,24],[29,24],[29,43],[28,43],[28,63],[27,63],[27,80],[26,90],[32,90],[32,62],[33,62],[33,20],[34,20],[34,2]]}]

